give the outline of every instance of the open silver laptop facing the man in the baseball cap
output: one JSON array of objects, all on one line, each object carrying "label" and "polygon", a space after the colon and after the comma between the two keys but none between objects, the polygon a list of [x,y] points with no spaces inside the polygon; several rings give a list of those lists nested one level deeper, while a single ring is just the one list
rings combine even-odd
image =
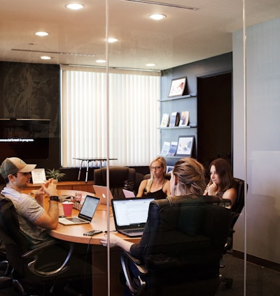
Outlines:
[{"label": "open silver laptop facing the man in the baseball cap", "polygon": [[86,195],[83,205],[80,209],[80,213],[78,214],[78,217],[59,218],[58,222],[63,225],[77,225],[90,223],[99,204],[99,200],[100,199],[97,197]]}]

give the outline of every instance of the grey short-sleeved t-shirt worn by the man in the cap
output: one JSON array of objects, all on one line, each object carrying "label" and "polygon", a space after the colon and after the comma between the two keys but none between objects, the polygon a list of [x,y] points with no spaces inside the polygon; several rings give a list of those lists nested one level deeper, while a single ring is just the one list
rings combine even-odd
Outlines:
[{"label": "grey short-sleeved t-shirt worn by the man in the cap", "polygon": [[34,225],[34,221],[45,211],[35,198],[7,187],[3,188],[1,193],[13,202],[15,211],[18,214],[20,229],[25,232],[27,239],[32,244],[38,244],[49,238],[44,228]]}]

